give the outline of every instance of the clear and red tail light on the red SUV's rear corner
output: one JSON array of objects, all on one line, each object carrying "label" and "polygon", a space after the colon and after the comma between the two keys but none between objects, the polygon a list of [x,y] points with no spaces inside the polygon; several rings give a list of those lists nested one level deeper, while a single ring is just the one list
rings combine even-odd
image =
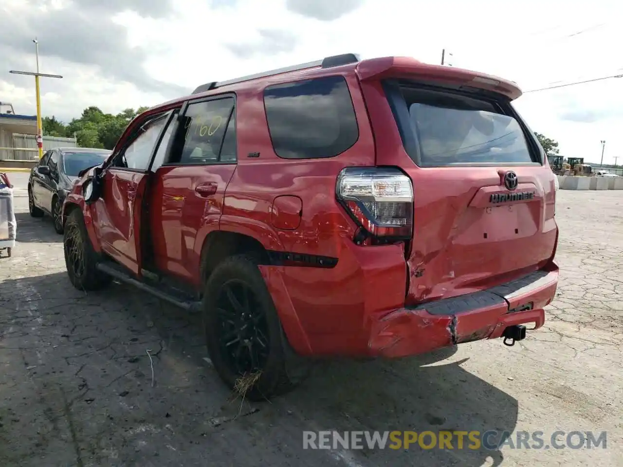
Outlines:
[{"label": "clear and red tail light on the red SUV's rear corner", "polygon": [[335,188],[364,237],[410,240],[413,231],[413,186],[398,169],[346,167]]}]

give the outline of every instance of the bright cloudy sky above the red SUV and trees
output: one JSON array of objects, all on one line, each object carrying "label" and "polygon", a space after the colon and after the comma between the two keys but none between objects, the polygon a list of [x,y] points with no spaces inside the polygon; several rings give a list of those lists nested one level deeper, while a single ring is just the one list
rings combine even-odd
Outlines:
[{"label": "bright cloudy sky above the red SUV and trees", "polygon": [[[516,106],[561,154],[623,163],[620,0],[1,0],[0,101],[63,121],[97,105],[117,113],[197,85],[356,52],[407,55],[500,75],[526,92]],[[619,45],[617,45],[619,44]]]}]

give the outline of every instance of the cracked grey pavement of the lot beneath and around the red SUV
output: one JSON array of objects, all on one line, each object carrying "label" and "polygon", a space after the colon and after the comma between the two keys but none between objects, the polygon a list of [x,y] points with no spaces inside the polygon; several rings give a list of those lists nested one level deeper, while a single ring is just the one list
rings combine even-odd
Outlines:
[{"label": "cracked grey pavement of the lot beneath and around the red SUV", "polygon": [[[0,466],[623,466],[623,192],[558,199],[558,297],[521,345],[321,364],[249,404],[204,360],[197,316],[123,285],[75,291],[62,238],[18,197],[19,245],[0,259]],[[546,445],[605,430],[607,447],[303,450],[303,430],[332,429],[541,431]]]}]

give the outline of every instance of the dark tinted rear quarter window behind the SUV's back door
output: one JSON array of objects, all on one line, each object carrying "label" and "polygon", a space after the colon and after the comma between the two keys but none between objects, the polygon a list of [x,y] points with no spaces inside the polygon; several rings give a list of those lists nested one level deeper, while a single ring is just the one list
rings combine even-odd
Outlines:
[{"label": "dark tinted rear quarter window behind the SUV's back door", "polygon": [[280,158],[332,158],[359,138],[353,101],[341,76],[267,87],[264,106]]}]

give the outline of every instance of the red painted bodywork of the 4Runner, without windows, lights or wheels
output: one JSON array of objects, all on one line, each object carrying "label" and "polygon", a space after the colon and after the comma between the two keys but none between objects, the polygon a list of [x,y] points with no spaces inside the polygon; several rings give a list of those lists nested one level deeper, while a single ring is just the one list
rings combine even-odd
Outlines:
[{"label": "red painted bodywork of the 4Runner, without windows, lights or wheels", "polygon": [[[326,75],[342,75],[348,83],[358,140],[335,158],[278,158],[266,125],[264,88]],[[266,250],[338,258],[334,268],[260,266],[288,341],[300,354],[400,357],[500,337],[513,324],[542,326],[543,308],[555,295],[558,277],[553,263],[558,242],[554,181],[546,161],[542,166],[512,167],[523,187],[536,194],[504,207],[491,207],[487,201],[490,194],[505,192],[500,187],[505,167],[416,166],[402,147],[379,81],[406,75],[469,85],[511,99],[521,94],[500,78],[401,57],[217,88],[151,108],[130,123],[117,148],[146,116],[181,108],[185,101],[206,95],[235,93],[237,164],[165,165],[145,174],[108,169],[103,196],[89,206],[81,194],[87,173],[67,197],[65,215],[74,205],[82,209],[95,250],[137,276],[145,263],[140,242],[143,234],[150,235],[151,260],[158,271],[197,290],[202,288],[202,250],[216,231],[251,237]],[[475,76],[482,79],[474,81]],[[261,157],[247,158],[249,153]],[[336,202],[335,184],[341,169],[361,166],[401,167],[411,178],[411,242],[379,246],[353,242],[356,225]],[[487,290],[544,268],[546,286],[503,306],[447,315],[412,309]],[[533,309],[508,313],[528,302]]]}]

